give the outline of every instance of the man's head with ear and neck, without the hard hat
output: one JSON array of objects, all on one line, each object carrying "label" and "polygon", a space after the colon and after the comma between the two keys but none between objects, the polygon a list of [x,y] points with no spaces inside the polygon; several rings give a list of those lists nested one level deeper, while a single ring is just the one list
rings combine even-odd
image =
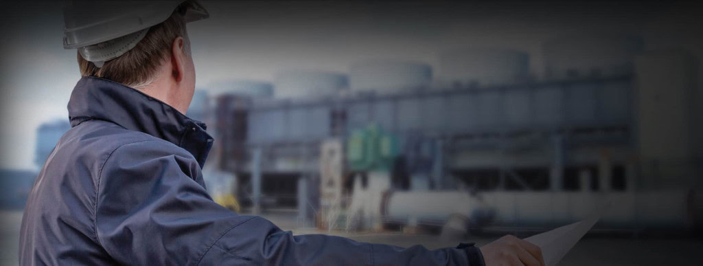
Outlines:
[{"label": "man's head with ear and neck, without the hard hat", "polygon": [[185,8],[149,28],[134,48],[101,68],[78,53],[81,75],[102,77],[139,89],[186,113],[195,90],[195,68],[186,32]]}]

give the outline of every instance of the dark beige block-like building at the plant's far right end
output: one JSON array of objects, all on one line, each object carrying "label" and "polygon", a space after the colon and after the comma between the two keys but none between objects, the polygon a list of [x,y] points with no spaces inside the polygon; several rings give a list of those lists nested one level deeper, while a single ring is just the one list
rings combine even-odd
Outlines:
[{"label": "dark beige block-like building at the plant's far right end", "polygon": [[638,56],[635,67],[640,185],[700,188],[703,110],[696,62],[683,51],[651,51]]}]

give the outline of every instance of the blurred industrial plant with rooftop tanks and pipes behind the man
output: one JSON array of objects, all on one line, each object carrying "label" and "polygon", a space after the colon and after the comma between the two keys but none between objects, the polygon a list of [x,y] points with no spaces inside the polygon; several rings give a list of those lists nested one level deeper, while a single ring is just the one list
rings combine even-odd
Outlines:
[{"label": "blurred industrial plant with rooftop tanks and pipes behind the man", "polygon": [[495,47],[438,51],[436,66],[285,70],[200,91],[188,115],[216,139],[204,168],[216,201],[296,210],[300,227],[467,234],[600,213],[596,229],[691,230],[695,62],[643,47],[560,37],[543,44],[543,75],[529,53]]}]

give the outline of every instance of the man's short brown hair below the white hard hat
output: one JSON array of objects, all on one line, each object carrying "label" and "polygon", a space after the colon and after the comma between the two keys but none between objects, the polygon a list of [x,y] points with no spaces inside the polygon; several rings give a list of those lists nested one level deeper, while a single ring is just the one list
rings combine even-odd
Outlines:
[{"label": "man's short brown hair below the white hard hat", "polygon": [[141,41],[126,53],[105,62],[98,68],[86,61],[78,53],[78,66],[83,77],[102,77],[119,82],[125,86],[142,88],[153,82],[159,66],[172,56],[171,46],[174,39],[183,37],[183,49],[190,53],[190,42],[186,32],[186,22],[183,20],[184,7],[176,11],[163,23],[149,28]]}]

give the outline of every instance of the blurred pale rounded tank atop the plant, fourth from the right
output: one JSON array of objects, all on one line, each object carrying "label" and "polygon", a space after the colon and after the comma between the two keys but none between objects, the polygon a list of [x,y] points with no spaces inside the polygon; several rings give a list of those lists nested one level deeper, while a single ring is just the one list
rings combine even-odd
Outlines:
[{"label": "blurred pale rounded tank atop the plant, fourth from the right", "polygon": [[348,87],[347,75],[315,70],[287,70],[274,77],[276,98],[309,99],[334,96]]}]

